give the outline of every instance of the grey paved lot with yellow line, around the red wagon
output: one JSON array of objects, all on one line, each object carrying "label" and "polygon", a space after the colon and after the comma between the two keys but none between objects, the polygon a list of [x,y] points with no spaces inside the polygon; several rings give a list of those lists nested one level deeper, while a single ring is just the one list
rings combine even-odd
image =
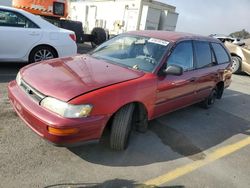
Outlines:
[{"label": "grey paved lot with yellow line, around the red wagon", "polygon": [[124,152],[106,142],[50,145],[13,112],[0,65],[0,187],[250,187],[250,77],[235,75],[209,110],[194,105],[150,122]]}]

